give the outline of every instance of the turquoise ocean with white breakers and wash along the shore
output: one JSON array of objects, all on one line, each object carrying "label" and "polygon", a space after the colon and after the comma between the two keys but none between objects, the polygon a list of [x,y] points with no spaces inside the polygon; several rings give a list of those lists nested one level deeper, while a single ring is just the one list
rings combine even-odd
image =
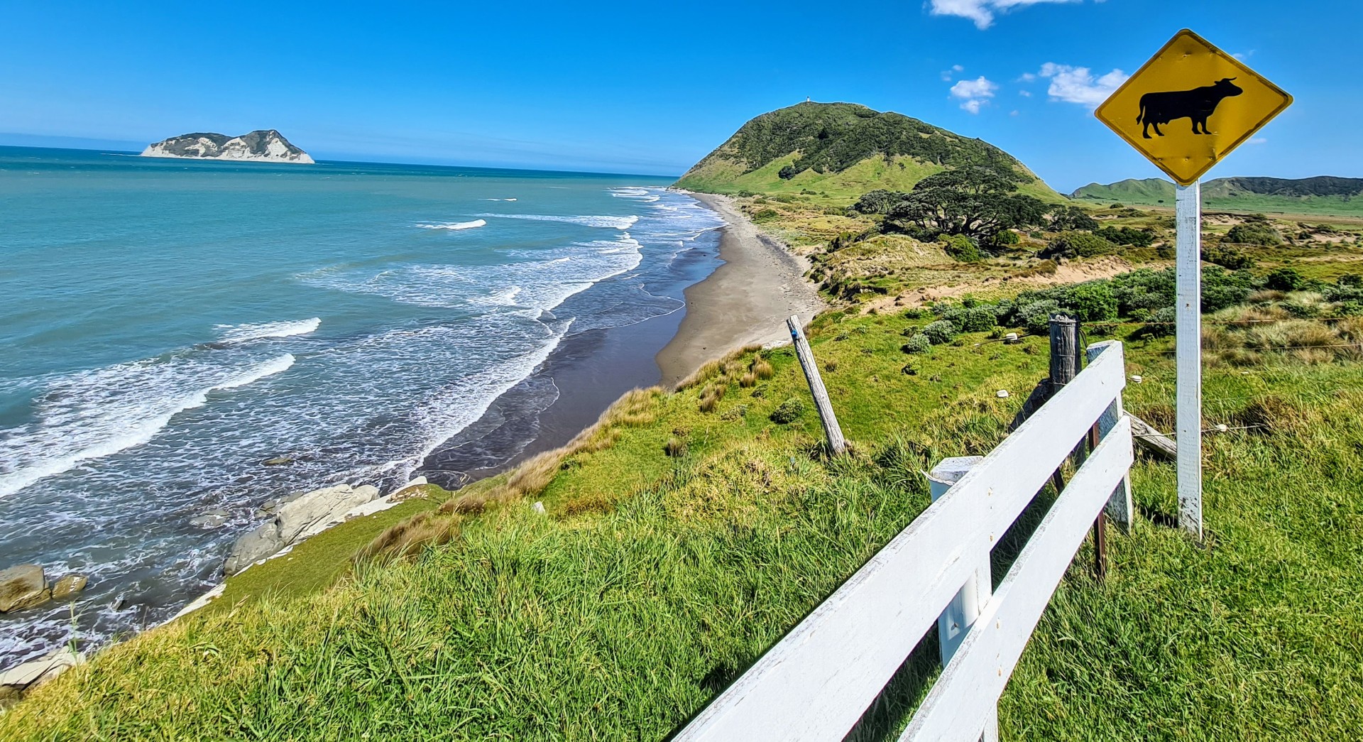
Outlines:
[{"label": "turquoise ocean with white breakers and wash along the shore", "polygon": [[0,569],[90,577],[0,668],[168,619],[267,499],[455,486],[656,383],[724,224],[667,183],[0,147]]}]

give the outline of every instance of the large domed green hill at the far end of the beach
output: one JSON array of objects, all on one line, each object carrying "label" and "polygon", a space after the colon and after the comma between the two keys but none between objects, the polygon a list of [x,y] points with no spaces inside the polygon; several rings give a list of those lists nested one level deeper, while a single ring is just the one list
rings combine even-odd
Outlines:
[{"label": "large domed green hill at the far end of the beach", "polygon": [[947,168],[980,164],[1022,175],[1021,191],[1063,201],[1011,154],[980,139],[857,104],[803,102],[763,113],[677,180],[717,194],[815,191],[856,198],[906,191]]}]

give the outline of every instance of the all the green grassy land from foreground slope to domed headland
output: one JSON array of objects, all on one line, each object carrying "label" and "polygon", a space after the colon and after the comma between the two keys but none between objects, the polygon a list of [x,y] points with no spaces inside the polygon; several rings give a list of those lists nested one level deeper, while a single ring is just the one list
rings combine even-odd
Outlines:
[{"label": "all the green grassy land from foreground slope to domed headland", "polygon": [[[1172,427],[1171,211],[1067,203],[905,117],[777,113],[687,184],[811,259],[849,454],[826,456],[789,348],[735,352],[247,570],[0,712],[0,739],[667,739],[928,506],[923,469],[1003,439],[1051,314],[1123,340],[1126,406]],[[1133,531],[1108,535],[1105,581],[1081,548],[1000,701],[1006,739],[1363,726],[1360,225],[1209,214],[1204,241],[1205,541],[1172,528],[1172,465],[1138,458]],[[895,739],[936,657],[930,633],[849,738]]]}]

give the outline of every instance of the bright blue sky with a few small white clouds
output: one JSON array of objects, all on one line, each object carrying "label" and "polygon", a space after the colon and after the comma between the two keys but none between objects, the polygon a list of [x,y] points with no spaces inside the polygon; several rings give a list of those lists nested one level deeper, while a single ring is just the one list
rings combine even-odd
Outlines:
[{"label": "bright blue sky with a few small white clouds", "polygon": [[1063,191],[1159,175],[1092,108],[1191,27],[1296,98],[1208,177],[1363,176],[1356,1],[0,0],[0,143],[278,128],[319,158],[680,175],[808,95],[979,136]]}]

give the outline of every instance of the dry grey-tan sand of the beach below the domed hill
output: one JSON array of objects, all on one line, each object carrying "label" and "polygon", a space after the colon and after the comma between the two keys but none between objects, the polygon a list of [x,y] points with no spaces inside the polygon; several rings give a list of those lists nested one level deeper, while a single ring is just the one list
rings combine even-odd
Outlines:
[{"label": "dry grey-tan sand of the beach below the domed hill", "polygon": [[720,237],[724,265],[686,289],[686,316],[657,355],[662,383],[673,385],[705,361],[748,344],[789,340],[785,321],[808,322],[827,306],[804,280],[808,266],[776,239],[763,235],[729,196],[690,194],[724,217]]}]

